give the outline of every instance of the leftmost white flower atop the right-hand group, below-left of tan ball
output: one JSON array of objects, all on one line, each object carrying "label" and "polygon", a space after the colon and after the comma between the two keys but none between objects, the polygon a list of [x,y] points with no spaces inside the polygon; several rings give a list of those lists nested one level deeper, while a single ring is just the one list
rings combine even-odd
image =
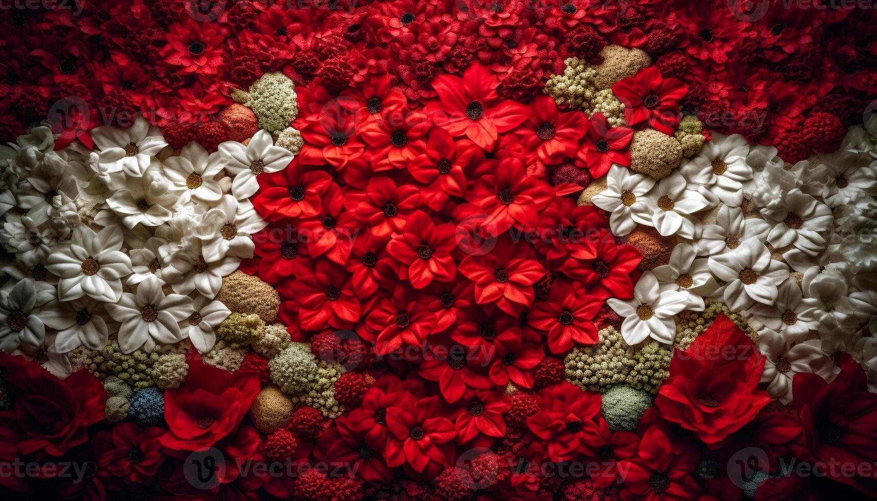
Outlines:
[{"label": "leftmost white flower atop the right-hand group, below-left of tan ball", "polygon": [[591,202],[603,211],[611,212],[609,223],[612,233],[624,236],[637,223],[652,225],[645,207],[645,194],[652,190],[655,180],[644,174],[632,174],[631,169],[612,164],[606,176],[607,189],[591,197]]}]

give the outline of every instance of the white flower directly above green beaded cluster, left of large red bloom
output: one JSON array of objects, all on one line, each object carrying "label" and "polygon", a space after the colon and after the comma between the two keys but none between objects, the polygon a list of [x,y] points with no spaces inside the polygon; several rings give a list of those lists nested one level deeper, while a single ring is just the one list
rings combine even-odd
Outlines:
[{"label": "white flower directly above green beaded cluster, left of large red bloom", "polygon": [[674,290],[661,292],[658,279],[651,271],[639,278],[633,290],[633,299],[622,301],[615,297],[606,304],[624,318],[621,335],[629,345],[635,345],[649,336],[660,342],[672,344],[676,338],[676,322],[673,316],[685,309],[687,299]]}]

